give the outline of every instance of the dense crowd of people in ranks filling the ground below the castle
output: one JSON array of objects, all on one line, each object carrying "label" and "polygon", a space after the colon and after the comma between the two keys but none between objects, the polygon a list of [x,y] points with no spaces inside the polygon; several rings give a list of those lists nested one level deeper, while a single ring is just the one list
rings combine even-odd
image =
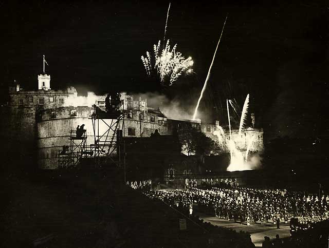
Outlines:
[{"label": "dense crowd of people in ranks filling the ground below the castle", "polygon": [[[198,212],[241,224],[270,222],[279,228],[280,222],[290,222],[291,237],[285,243],[291,247],[320,244],[328,237],[328,195],[319,197],[287,189],[238,187],[236,180],[202,180],[199,188],[196,180],[190,180],[186,189],[176,190],[152,190],[147,181],[134,182],[132,187],[136,184],[135,188],[142,189],[150,198],[166,202],[190,216],[197,206]],[[267,241],[264,242],[266,245]],[[276,245],[280,247],[278,241]]]}]

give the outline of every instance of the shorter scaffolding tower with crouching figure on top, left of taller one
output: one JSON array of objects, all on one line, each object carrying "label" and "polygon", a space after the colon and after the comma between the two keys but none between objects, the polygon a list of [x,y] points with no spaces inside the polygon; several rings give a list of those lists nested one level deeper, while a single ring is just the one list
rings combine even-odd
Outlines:
[{"label": "shorter scaffolding tower with crouching figure on top, left of taller one", "polygon": [[75,168],[81,164],[83,158],[92,156],[92,152],[87,149],[87,136],[83,132],[81,137],[77,137],[76,130],[70,131],[70,145],[63,146],[63,150],[58,155],[58,168]]}]

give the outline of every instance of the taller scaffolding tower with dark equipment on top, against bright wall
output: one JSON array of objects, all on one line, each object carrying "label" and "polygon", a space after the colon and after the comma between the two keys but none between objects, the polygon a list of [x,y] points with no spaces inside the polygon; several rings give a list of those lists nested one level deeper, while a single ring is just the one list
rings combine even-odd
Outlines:
[{"label": "taller scaffolding tower with dark equipment on top, against bright wall", "polygon": [[105,168],[111,164],[122,168],[125,152],[124,113],[120,110],[122,106],[123,101],[120,101],[115,108],[105,112],[93,105],[94,112],[90,119],[93,123],[94,144],[90,144],[90,151],[93,152],[95,168]]}]

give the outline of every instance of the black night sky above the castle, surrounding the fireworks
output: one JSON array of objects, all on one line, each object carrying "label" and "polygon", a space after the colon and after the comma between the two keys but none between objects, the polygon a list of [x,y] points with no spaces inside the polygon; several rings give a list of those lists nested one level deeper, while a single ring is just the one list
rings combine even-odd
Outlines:
[{"label": "black night sky above the castle, surrounding the fireworks", "polygon": [[[169,2],[121,2],[0,2],[2,87],[15,79],[35,89],[45,54],[53,89],[159,90],[140,56],[163,39]],[[228,13],[200,111],[226,120],[226,98],[242,106],[250,93],[268,137],[327,135],[329,4],[308,2],[172,3],[167,37],[192,56],[196,74],[165,93],[196,104]]]}]

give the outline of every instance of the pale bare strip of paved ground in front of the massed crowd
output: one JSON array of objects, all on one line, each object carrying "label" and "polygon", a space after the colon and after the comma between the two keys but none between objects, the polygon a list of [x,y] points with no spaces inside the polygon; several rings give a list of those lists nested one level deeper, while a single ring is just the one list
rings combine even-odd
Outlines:
[{"label": "pale bare strip of paved ground in front of the massed crowd", "polygon": [[247,226],[246,223],[235,223],[233,221],[224,220],[222,218],[209,216],[204,213],[196,213],[196,215],[198,215],[200,219],[203,219],[205,222],[210,222],[213,225],[233,229],[236,232],[243,231],[249,233],[251,235],[252,242],[257,247],[262,246],[264,236],[268,236],[271,239],[275,239],[277,234],[279,234],[280,238],[290,237],[289,223],[285,224],[282,222],[280,223],[280,229],[277,229],[277,226],[271,223],[264,223],[264,225],[251,224],[250,226]]}]

